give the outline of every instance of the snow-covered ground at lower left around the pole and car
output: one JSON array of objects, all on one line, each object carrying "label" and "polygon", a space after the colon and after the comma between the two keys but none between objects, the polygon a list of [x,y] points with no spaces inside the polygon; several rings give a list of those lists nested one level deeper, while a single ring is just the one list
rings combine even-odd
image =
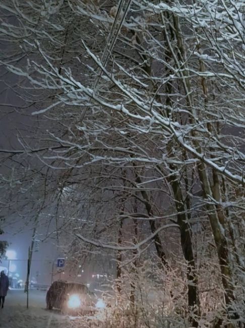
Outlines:
[{"label": "snow-covered ground at lower left around the pole and car", "polygon": [[[30,291],[29,308],[23,290],[10,290],[0,309],[1,328],[89,328],[91,318],[71,317],[45,310],[45,292]],[[95,319],[95,318],[94,318]],[[95,321],[95,320],[93,320]],[[97,321],[97,320],[96,320]],[[97,321],[98,327],[99,322]],[[93,325],[94,326],[94,325]]]}]

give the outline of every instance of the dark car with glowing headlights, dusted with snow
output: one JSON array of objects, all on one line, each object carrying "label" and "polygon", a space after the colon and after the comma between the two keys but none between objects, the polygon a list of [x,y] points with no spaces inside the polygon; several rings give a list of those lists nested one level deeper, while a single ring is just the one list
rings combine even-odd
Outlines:
[{"label": "dark car with glowing headlights, dusted with snow", "polygon": [[81,283],[55,281],[46,294],[46,309],[60,309],[63,314],[93,314],[103,301]]}]

